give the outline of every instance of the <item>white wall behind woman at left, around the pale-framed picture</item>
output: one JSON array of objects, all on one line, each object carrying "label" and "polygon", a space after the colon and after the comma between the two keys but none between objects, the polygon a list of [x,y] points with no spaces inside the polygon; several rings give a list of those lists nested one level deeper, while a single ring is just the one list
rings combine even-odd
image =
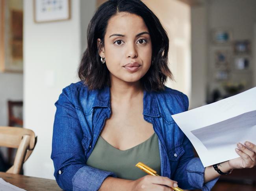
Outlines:
[{"label": "white wall behind woman at left, around the pale-framed picture", "polygon": [[54,103],[65,86],[78,81],[82,44],[85,47],[81,39],[86,36],[81,34],[81,23],[87,27],[95,10],[92,2],[72,0],[70,20],[36,24],[33,4],[24,0],[24,127],[37,135],[37,145],[24,165],[25,175],[54,178],[50,159]]}]

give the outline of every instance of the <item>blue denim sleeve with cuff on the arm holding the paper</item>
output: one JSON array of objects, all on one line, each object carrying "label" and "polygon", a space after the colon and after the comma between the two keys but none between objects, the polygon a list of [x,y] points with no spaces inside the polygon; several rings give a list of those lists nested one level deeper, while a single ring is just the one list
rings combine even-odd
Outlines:
[{"label": "blue denim sleeve with cuff on the arm holding the paper", "polygon": [[193,146],[186,136],[183,142],[185,153],[180,157],[173,180],[178,182],[182,189],[201,189],[210,191],[219,178],[204,183],[204,166],[199,158],[193,154]]}]

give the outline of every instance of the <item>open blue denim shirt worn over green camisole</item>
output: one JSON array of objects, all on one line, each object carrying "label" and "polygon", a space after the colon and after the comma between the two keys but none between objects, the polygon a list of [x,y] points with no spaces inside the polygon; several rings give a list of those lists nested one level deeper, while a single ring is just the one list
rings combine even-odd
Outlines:
[{"label": "open blue denim shirt worn over green camisole", "polygon": [[[111,114],[110,90],[89,91],[83,82],[63,89],[56,102],[52,155],[54,176],[64,190],[96,191],[113,172],[86,165],[96,140]],[[218,178],[204,184],[204,167],[171,115],[187,111],[188,98],[165,87],[143,95],[144,119],[158,135],[161,176],[176,180],[180,188],[210,190]],[[104,160],[104,158],[102,158]]]}]

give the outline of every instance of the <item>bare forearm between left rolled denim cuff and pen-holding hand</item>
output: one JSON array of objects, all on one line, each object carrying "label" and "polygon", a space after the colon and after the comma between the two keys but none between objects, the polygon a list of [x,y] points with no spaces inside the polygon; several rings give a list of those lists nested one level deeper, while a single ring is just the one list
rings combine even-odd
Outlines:
[{"label": "bare forearm between left rolled denim cuff and pen-holding hand", "polygon": [[108,176],[100,186],[99,191],[131,191],[132,180]]}]

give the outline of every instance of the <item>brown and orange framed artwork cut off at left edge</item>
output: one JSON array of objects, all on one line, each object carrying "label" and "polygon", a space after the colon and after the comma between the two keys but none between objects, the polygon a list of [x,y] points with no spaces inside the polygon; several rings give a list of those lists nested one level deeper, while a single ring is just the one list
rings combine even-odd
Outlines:
[{"label": "brown and orange framed artwork cut off at left edge", "polygon": [[23,71],[23,1],[0,0],[0,71]]}]

